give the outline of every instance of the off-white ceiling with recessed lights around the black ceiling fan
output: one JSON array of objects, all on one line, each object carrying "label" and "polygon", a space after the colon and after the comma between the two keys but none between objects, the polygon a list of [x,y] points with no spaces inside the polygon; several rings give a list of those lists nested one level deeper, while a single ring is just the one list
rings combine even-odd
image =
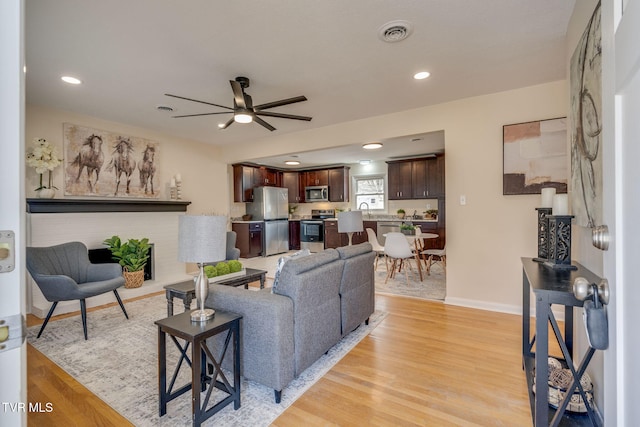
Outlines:
[{"label": "off-white ceiling with recessed lights around the black ceiling fan", "polygon": [[[575,0],[25,3],[27,103],[228,145],[563,79]],[[395,20],[411,34],[381,41],[379,29]],[[431,77],[414,80],[422,70]],[[224,110],[165,93],[232,107],[237,76],[251,79],[254,105],[305,95],[270,111],[313,120],[263,117],[277,129],[269,132],[218,129],[230,114],[171,117]],[[405,153],[412,137],[389,146]],[[346,152],[329,154],[335,162]]]}]

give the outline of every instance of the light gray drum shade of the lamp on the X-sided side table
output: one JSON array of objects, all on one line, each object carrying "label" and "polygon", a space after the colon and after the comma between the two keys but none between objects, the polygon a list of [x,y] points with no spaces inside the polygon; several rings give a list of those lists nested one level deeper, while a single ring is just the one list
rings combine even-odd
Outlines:
[{"label": "light gray drum shade of the lamp on the X-sided side table", "polygon": [[183,215],[178,223],[178,261],[216,262],[226,258],[227,217]]}]

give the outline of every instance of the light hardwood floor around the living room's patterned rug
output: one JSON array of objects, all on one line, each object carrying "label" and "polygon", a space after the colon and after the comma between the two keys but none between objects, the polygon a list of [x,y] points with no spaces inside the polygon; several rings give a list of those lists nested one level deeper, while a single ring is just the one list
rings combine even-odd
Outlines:
[{"label": "light hardwood floor around the living room's patterned rug", "polygon": [[[274,425],[531,425],[520,316],[387,295],[376,307],[386,319]],[[29,401],[55,408],[29,426],[131,425],[31,346],[27,358]]]}]

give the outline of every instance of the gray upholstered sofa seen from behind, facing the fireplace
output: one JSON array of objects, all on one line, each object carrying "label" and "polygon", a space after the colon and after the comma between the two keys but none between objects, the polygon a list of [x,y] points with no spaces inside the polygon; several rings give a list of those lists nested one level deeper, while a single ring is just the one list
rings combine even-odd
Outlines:
[{"label": "gray upholstered sofa seen from behind, facing the fireplace", "polygon": [[[210,285],[207,307],[243,316],[242,376],[273,388],[280,403],[287,384],[368,322],[375,308],[374,260],[371,245],[362,243],[286,262],[273,292]],[[223,342],[218,337],[209,345],[220,349]]]}]

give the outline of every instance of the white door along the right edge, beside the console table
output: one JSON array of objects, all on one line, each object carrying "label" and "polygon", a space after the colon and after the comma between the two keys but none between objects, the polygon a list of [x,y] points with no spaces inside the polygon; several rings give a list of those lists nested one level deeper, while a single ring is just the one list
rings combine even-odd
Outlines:
[{"label": "white door along the right edge, beside the console table", "polygon": [[[622,2],[612,8],[619,24],[615,30],[615,155],[608,176],[615,179],[613,253],[605,253],[605,277],[614,280],[615,323],[611,336],[613,351],[605,359],[605,425],[632,426],[640,420],[638,380],[640,379],[640,2]],[[615,166],[615,167],[613,167]],[[606,167],[606,166],[605,166]],[[611,190],[605,186],[605,192]],[[606,200],[605,200],[606,204]],[[605,208],[606,209],[606,208]],[[612,331],[613,332],[613,331]]]}]

